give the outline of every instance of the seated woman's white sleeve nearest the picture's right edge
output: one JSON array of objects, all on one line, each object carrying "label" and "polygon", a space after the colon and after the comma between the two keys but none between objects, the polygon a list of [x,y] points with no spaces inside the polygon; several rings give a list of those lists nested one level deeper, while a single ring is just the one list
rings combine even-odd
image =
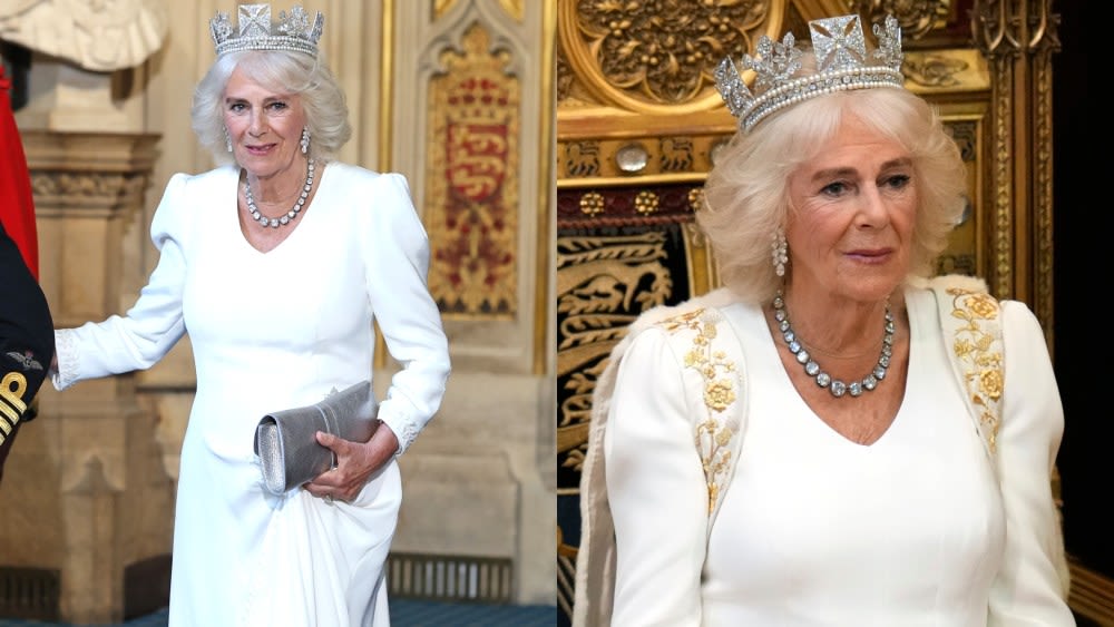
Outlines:
[{"label": "seated woman's white sleeve nearest the picture's right edge", "polygon": [[1074,626],[1052,471],[1064,411],[1036,316],[1001,303],[1005,383],[997,462],[1006,512],[1006,551],[990,590],[991,626]]}]

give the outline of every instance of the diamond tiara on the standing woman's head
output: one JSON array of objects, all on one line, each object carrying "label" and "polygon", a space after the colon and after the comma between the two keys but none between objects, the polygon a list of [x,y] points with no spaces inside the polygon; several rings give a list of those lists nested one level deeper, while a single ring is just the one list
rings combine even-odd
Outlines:
[{"label": "diamond tiara on the standing woman's head", "polygon": [[295,6],[290,14],[278,11],[278,22],[271,22],[271,4],[241,4],[238,11],[240,30],[232,27],[228,13],[217,12],[209,20],[209,31],[216,43],[216,55],[241,50],[290,50],[317,56],[317,40],[325,25],[325,18],[317,17],[310,22],[310,16],[302,7]]}]

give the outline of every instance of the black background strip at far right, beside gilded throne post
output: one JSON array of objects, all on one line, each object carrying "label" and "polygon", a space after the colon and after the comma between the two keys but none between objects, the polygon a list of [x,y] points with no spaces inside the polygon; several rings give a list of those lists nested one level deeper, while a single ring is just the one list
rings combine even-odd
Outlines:
[{"label": "black background strip at far right, beside gilded throne post", "polygon": [[[1087,2],[1059,0],[1062,49],[1053,57],[1054,363],[1064,402],[1065,429],[1058,468],[1063,481],[1064,539],[1084,566],[1114,578],[1114,441],[1110,390],[1114,390],[1106,301],[1111,285],[1110,175],[1093,176],[1110,163],[1110,114],[1087,98],[1087,84],[1104,82],[1087,71],[1098,39],[1085,31],[1098,20]],[[1097,25],[1096,25],[1097,26]]]}]

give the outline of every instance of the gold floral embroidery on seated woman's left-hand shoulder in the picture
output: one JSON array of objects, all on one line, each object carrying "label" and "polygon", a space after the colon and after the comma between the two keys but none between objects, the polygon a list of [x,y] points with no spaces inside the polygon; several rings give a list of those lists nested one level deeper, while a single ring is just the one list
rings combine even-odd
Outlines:
[{"label": "gold floral embroidery on seated woman's left-hand shoulder in the picture", "polygon": [[704,405],[707,419],[697,421],[694,429],[696,450],[700,452],[707,481],[707,511],[715,509],[720,498],[720,487],[724,484],[731,470],[731,439],[737,430],[727,423],[726,412],[739,399],[736,364],[723,351],[715,351],[712,341],[716,336],[717,314],[705,308],[678,314],[663,321],[662,326],[672,333],[681,330],[695,332],[692,349],[685,353],[685,366],[700,374],[704,382]]}]

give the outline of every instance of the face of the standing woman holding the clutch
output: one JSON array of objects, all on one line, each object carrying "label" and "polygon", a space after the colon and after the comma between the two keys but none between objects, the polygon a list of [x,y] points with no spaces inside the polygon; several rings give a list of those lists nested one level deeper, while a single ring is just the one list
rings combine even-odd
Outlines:
[{"label": "face of the standing woman holding the clutch", "polygon": [[[224,124],[236,163],[271,178],[291,169],[301,153],[305,111],[297,96],[272,91],[237,68],[224,88]],[[301,165],[296,169],[301,176]]]}]

